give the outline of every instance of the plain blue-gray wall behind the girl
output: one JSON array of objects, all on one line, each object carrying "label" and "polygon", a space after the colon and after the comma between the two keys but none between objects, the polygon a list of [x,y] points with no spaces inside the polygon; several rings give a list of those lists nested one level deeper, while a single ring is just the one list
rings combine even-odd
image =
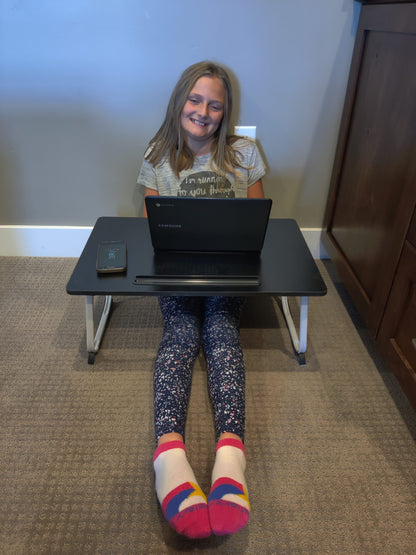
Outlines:
[{"label": "plain blue-gray wall behind the girl", "polygon": [[360,4],[0,0],[0,224],[133,216],[143,152],[189,64],[232,72],[274,217],[321,227]]}]

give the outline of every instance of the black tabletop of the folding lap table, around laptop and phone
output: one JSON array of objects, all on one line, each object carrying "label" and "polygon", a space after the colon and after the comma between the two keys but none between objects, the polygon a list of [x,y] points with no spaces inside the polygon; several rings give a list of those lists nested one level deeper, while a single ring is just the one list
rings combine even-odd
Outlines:
[{"label": "black tabletop of the folding lap table, around laptop and phone", "polygon": [[[127,271],[97,274],[100,241],[127,244]],[[146,218],[102,217],[91,232],[67,285],[70,295],[281,295],[322,296],[325,283],[298,224],[292,219],[270,219],[256,286],[136,285],[137,275],[151,273],[153,247]]]}]

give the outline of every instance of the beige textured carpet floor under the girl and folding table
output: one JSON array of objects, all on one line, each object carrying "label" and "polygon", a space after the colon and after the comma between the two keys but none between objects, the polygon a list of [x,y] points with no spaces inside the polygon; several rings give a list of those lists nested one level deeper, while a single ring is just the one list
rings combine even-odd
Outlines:
[{"label": "beige textured carpet floor under the girl and folding table", "polygon": [[[0,258],[0,552],[416,553],[416,415],[332,264],[299,366],[276,299],[243,316],[252,513],[232,537],[189,541],[153,489],[151,297],[115,299],[88,365],[73,259]],[[295,305],[296,306],[296,303]],[[187,426],[203,489],[214,460],[204,360]]]}]

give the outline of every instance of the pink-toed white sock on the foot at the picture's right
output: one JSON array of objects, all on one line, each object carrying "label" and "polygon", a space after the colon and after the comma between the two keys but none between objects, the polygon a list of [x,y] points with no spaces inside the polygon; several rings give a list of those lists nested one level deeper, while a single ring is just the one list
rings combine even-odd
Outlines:
[{"label": "pink-toed white sock on the foot at the picture's right", "polygon": [[218,442],[208,496],[209,519],[216,536],[234,534],[247,524],[250,503],[244,478],[245,467],[241,441],[222,439]]}]

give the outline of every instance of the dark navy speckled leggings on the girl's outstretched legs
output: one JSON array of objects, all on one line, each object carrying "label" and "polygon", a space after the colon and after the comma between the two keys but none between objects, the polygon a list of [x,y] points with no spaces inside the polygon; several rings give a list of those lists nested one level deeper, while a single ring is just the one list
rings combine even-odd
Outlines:
[{"label": "dark navy speckled leggings on the girl's outstretched legs", "polygon": [[160,297],[163,336],[154,370],[156,440],[184,436],[192,371],[201,340],[217,440],[244,438],[245,367],[240,346],[241,297]]}]

